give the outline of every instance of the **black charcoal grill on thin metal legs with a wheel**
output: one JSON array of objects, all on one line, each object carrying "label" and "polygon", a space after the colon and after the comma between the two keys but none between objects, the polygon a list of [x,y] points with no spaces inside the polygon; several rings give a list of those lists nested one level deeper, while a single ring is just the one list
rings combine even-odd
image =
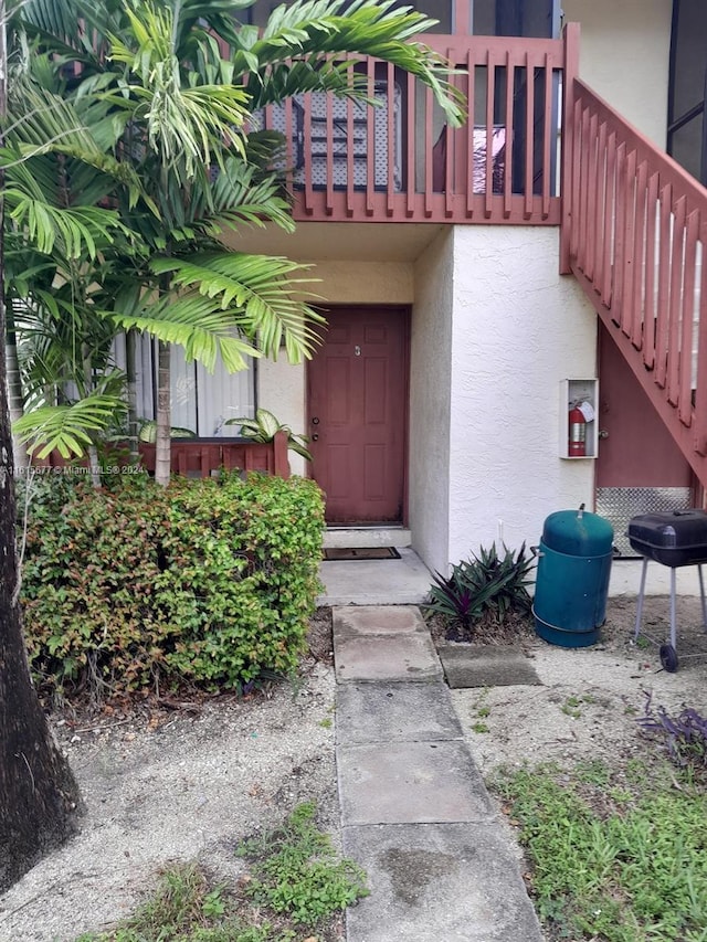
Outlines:
[{"label": "black charcoal grill on thin metal legs with a wheel", "polygon": [[677,670],[677,629],[675,614],[675,570],[696,565],[699,575],[699,594],[703,604],[703,625],[707,628],[707,605],[703,563],[707,562],[707,512],[704,510],[674,510],[671,514],[641,514],[632,517],[626,532],[631,548],[643,557],[641,590],[636,611],[634,639],[641,634],[643,596],[648,562],[659,562],[671,569],[671,638],[659,648],[661,664],[666,670]]}]

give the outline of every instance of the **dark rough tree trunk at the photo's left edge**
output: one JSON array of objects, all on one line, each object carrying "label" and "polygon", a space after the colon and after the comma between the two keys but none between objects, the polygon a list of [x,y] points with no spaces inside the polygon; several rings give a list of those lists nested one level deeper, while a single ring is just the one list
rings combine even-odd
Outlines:
[{"label": "dark rough tree trunk at the photo's left edge", "polygon": [[[0,113],[6,102],[4,23],[0,0]],[[0,192],[1,184],[0,179]],[[22,639],[4,359],[2,225],[0,204],[0,890],[74,832],[80,805],[78,788],[32,686]]]}]

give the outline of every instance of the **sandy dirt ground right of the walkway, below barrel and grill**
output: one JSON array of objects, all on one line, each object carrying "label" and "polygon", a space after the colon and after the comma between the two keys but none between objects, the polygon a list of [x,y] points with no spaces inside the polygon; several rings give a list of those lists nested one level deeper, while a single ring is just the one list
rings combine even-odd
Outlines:
[{"label": "sandy dirt ground right of the walkway, below barrel and grill", "polygon": [[699,600],[678,600],[675,674],[664,670],[658,657],[658,643],[668,632],[668,600],[645,600],[643,629],[655,643],[633,643],[635,613],[634,599],[610,600],[600,643],[585,648],[547,644],[526,625],[518,646],[531,659],[541,686],[452,691],[484,775],[502,765],[549,761],[571,766],[601,759],[615,766],[644,754],[648,747],[636,718],[648,697],[669,711],[687,705],[707,712],[707,633]]}]

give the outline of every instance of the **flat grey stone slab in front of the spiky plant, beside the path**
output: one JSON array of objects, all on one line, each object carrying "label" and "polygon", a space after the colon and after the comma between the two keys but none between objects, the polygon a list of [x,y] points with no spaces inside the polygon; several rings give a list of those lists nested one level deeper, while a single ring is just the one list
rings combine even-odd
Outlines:
[{"label": "flat grey stone slab in front of the spiky plant, beside the path", "polygon": [[515,647],[450,644],[437,654],[453,689],[542,685],[532,663]]}]

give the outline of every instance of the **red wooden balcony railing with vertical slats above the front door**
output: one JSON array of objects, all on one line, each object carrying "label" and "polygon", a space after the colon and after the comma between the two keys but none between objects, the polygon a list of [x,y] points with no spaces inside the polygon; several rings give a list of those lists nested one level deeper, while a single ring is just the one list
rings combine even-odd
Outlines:
[{"label": "red wooden balcony railing with vertical slats above the front door", "polygon": [[376,105],[313,92],[268,106],[295,219],[558,224],[560,96],[577,36],[425,35],[458,70],[469,105],[458,129],[413,76],[372,59],[350,71]]}]

